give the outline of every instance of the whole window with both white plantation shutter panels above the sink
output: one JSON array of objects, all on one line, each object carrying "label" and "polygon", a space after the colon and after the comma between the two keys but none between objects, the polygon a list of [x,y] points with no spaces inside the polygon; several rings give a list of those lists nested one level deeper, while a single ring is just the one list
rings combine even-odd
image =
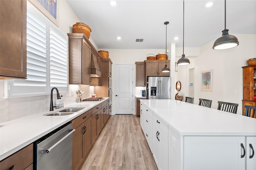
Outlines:
[{"label": "whole window with both white plantation shutter panels above the sink", "polygon": [[27,4],[27,79],[8,80],[5,97],[68,92],[68,36]]}]

